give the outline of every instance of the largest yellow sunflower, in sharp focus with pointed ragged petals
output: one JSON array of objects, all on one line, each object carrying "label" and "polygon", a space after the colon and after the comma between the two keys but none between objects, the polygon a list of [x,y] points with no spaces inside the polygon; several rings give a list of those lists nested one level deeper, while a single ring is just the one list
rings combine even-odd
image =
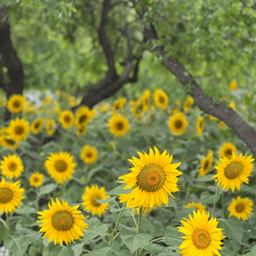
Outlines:
[{"label": "largest yellow sunflower, in sharp focus with pointed ragged petals", "polygon": [[[155,151],[155,154],[154,154]],[[171,164],[172,156],[154,147],[154,151],[150,148],[149,154],[139,154],[140,159],[133,157],[129,160],[133,167],[130,169],[129,174],[119,177],[123,179],[120,183],[127,183],[124,189],[131,189],[131,193],[123,197],[123,201],[127,201],[127,205],[132,204],[134,207],[160,207],[162,202],[168,205],[168,194],[176,192],[177,176],[182,172],[177,171],[177,164]]]}]

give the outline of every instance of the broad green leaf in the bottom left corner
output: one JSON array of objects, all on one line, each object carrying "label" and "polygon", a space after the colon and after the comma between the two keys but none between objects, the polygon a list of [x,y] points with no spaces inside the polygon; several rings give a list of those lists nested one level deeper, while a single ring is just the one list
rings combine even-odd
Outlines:
[{"label": "broad green leaf in the bottom left corner", "polygon": [[28,247],[28,239],[26,236],[14,235],[5,236],[3,246],[16,256],[24,256]]}]

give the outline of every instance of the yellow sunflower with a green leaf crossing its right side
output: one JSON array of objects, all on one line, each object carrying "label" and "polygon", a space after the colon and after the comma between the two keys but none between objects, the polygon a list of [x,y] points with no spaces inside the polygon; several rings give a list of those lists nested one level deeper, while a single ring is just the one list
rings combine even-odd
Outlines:
[{"label": "yellow sunflower with a green leaf crossing its right side", "polygon": [[101,204],[96,199],[107,199],[109,196],[106,194],[107,192],[104,187],[100,189],[97,185],[87,186],[84,189],[82,206],[87,212],[91,212],[92,215],[96,214],[101,217],[102,213],[108,209],[109,204]]}]

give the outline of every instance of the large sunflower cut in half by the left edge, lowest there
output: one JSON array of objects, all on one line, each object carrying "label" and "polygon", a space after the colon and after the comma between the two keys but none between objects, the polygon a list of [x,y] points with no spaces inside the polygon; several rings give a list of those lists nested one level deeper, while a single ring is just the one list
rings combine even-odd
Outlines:
[{"label": "large sunflower cut in half by the left edge, lowest there", "polygon": [[20,182],[8,183],[2,178],[0,183],[0,212],[13,212],[25,198],[22,194],[25,189],[20,189]]}]

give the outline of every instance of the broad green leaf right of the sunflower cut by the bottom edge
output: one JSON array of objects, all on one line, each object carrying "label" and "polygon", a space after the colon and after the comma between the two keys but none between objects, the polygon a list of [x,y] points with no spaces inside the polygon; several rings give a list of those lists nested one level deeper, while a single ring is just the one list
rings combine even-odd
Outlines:
[{"label": "broad green leaf right of the sunflower cut by the bottom edge", "polygon": [[221,218],[218,223],[218,228],[224,229],[224,236],[241,242],[243,236],[242,222],[235,216],[231,216],[228,219]]}]

